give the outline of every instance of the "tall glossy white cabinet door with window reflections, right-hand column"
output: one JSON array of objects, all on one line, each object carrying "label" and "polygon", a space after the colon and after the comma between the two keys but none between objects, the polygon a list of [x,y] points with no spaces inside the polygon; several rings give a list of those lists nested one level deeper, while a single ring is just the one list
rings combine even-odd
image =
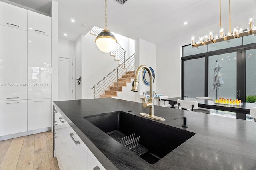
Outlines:
[{"label": "tall glossy white cabinet door with window reflections, right-hand column", "polygon": [[28,32],[28,99],[51,97],[51,37]]}]

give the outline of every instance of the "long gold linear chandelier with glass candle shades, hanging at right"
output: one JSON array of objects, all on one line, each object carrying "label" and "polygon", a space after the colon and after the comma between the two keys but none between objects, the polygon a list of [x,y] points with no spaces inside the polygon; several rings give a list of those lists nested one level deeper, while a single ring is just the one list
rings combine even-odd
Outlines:
[{"label": "long gold linear chandelier with glass candle shades, hanging at right", "polygon": [[217,43],[226,40],[231,40],[234,38],[239,38],[243,36],[248,36],[256,34],[256,26],[254,25],[254,16],[248,18],[247,29],[243,30],[242,27],[235,26],[231,32],[231,19],[230,19],[230,0],[229,0],[229,31],[225,34],[225,27],[221,26],[221,14],[220,14],[220,29],[218,34],[214,34],[213,30],[209,30],[208,34],[204,36],[199,36],[199,40],[195,40],[195,36],[191,36],[192,47],[199,47],[202,45],[208,45],[210,43]]}]

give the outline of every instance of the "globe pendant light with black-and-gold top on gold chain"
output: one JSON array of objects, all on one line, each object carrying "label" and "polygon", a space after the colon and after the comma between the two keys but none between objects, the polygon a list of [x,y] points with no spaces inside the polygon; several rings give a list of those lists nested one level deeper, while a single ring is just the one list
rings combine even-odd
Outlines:
[{"label": "globe pendant light with black-and-gold top on gold chain", "polygon": [[105,29],[95,39],[96,45],[100,51],[109,53],[116,47],[116,38],[107,29],[107,0],[105,0]]}]

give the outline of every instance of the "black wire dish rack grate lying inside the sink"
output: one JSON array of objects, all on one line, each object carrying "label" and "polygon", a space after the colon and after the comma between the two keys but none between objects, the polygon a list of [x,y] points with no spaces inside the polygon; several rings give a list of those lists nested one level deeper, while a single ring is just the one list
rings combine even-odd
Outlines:
[{"label": "black wire dish rack grate lying inside the sink", "polygon": [[108,132],[107,134],[129,150],[133,151],[138,156],[148,152],[147,148],[139,144],[140,136],[135,137],[135,134],[127,136],[118,130]]}]

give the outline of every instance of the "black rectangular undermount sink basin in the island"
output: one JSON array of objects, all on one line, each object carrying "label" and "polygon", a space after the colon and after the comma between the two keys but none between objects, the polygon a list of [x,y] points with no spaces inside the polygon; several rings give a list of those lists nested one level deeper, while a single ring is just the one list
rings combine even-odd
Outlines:
[{"label": "black rectangular undermount sink basin in the island", "polygon": [[150,164],[164,158],[195,134],[122,111],[84,118],[105,133],[118,130],[127,136],[134,133],[140,136],[139,144],[148,150],[140,157]]}]

